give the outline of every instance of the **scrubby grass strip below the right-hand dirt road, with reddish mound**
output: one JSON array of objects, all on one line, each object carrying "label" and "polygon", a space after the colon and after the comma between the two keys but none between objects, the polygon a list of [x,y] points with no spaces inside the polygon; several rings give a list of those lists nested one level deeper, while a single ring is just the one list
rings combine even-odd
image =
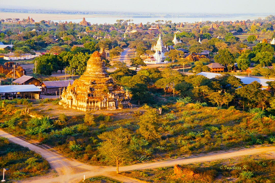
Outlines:
[{"label": "scrubby grass strip below the right-hand dirt road, with reddish mound", "polygon": [[274,155],[245,156],[222,161],[122,173],[143,181],[161,183],[275,182]]}]

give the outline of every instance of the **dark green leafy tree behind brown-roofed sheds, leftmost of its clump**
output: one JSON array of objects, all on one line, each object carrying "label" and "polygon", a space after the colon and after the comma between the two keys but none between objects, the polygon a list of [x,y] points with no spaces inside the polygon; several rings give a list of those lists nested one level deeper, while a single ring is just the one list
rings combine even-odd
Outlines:
[{"label": "dark green leafy tree behind brown-roofed sheds, leftmost of its clump", "polygon": [[51,75],[53,72],[58,71],[57,56],[51,54],[41,55],[34,59],[37,61],[36,72],[38,74]]}]

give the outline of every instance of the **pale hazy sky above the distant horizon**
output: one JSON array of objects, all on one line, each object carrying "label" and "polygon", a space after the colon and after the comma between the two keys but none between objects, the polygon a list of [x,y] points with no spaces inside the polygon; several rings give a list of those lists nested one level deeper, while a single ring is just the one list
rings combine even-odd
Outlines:
[{"label": "pale hazy sky above the distant horizon", "polygon": [[275,14],[274,0],[0,0],[0,5],[11,8],[21,5],[41,9],[158,12],[163,14],[168,12]]}]

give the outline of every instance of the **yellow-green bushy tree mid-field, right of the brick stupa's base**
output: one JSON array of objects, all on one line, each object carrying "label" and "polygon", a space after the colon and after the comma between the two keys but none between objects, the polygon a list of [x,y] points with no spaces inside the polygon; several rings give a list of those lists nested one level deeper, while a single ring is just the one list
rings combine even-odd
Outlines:
[{"label": "yellow-green bushy tree mid-field, right of the brick stupa's base", "polygon": [[149,109],[139,118],[139,133],[145,137],[146,140],[156,140],[158,137],[158,119],[159,114],[156,109]]}]

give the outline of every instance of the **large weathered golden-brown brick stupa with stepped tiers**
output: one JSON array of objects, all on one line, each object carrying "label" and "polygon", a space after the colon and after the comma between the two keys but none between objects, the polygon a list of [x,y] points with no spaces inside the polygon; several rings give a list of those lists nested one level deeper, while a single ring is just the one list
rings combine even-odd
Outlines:
[{"label": "large weathered golden-brown brick stupa with stepped tiers", "polygon": [[114,84],[106,72],[101,54],[95,51],[87,61],[84,74],[63,89],[59,104],[80,111],[131,108],[128,90]]}]

